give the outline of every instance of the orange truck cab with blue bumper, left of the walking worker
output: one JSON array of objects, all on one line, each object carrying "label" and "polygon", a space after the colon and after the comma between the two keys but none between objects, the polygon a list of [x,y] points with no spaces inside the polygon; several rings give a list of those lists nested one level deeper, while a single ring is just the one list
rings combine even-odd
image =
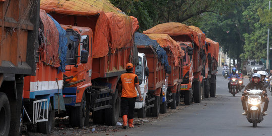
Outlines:
[{"label": "orange truck cab with blue bumper, left of the walking worker", "polygon": [[61,25],[67,32],[67,66],[63,97],[72,126],[89,123],[93,32],[88,27]]}]

